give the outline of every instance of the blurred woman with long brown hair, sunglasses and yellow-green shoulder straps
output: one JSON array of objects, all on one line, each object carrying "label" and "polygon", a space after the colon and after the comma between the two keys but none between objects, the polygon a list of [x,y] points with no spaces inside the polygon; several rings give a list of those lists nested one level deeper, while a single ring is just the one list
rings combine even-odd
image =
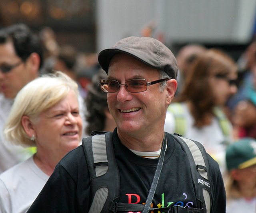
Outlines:
[{"label": "blurred woman with long brown hair, sunglasses and yellow-green shoulder straps", "polygon": [[237,91],[236,78],[237,67],[230,56],[220,50],[206,50],[190,66],[184,88],[166,116],[174,125],[165,126],[165,131],[200,141],[222,172],[226,144],[233,141],[225,104]]}]

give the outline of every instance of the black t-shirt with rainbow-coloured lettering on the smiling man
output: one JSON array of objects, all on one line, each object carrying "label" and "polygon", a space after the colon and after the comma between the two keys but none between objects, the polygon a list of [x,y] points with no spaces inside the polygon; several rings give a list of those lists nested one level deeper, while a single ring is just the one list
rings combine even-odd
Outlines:
[{"label": "black t-shirt with rainbow-coloured lettering on the smiling man", "polygon": [[[188,158],[178,142],[167,135],[167,149],[153,207],[196,207]],[[120,173],[120,203],[145,203],[158,159],[132,153],[113,134],[114,153]],[[211,213],[226,212],[226,193],[218,163],[208,155],[211,173]],[[31,212],[88,212],[92,196],[90,177],[82,146],[70,151],[56,165],[46,185],[29,209]]]}]

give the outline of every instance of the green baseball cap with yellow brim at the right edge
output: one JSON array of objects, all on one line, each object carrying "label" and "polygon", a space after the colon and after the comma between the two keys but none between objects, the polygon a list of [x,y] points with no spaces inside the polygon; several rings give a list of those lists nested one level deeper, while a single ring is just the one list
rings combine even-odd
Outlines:
[{"label": "green baseball cap with yellow brim at the right edge", "polygon": [[256,164],[256,139],[245,137],[230,144],[226,150],[226,165],[231,169],[244,169]]}]

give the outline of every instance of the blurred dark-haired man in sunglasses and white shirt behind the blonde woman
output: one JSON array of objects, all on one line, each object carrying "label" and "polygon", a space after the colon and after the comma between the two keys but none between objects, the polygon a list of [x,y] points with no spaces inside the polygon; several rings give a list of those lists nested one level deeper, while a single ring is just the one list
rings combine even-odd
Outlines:
[{"label": "blurred dark-haired man in sunglasses and white shirt behind the blonde woman", "polygon": [[0,30],[0,173],[32,154],[5,141],[2,130],[16,94],[38,77],[42,54],[38,37],[25,24]]}]

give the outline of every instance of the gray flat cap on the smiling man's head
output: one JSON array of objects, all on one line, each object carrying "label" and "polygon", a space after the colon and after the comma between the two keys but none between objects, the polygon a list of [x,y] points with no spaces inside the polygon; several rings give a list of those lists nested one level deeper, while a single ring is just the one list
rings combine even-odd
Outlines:
[{"label": "gray flat cap on the smiling man's head", "polygon": [[128,37],[116,42],[112,48],[102,50],[98,61],[106,73],[111,58],[118,53],[126,53],[152,68],[166,72],[171,78],[177,78],[176,58],[169,48],[154,38]]}]

